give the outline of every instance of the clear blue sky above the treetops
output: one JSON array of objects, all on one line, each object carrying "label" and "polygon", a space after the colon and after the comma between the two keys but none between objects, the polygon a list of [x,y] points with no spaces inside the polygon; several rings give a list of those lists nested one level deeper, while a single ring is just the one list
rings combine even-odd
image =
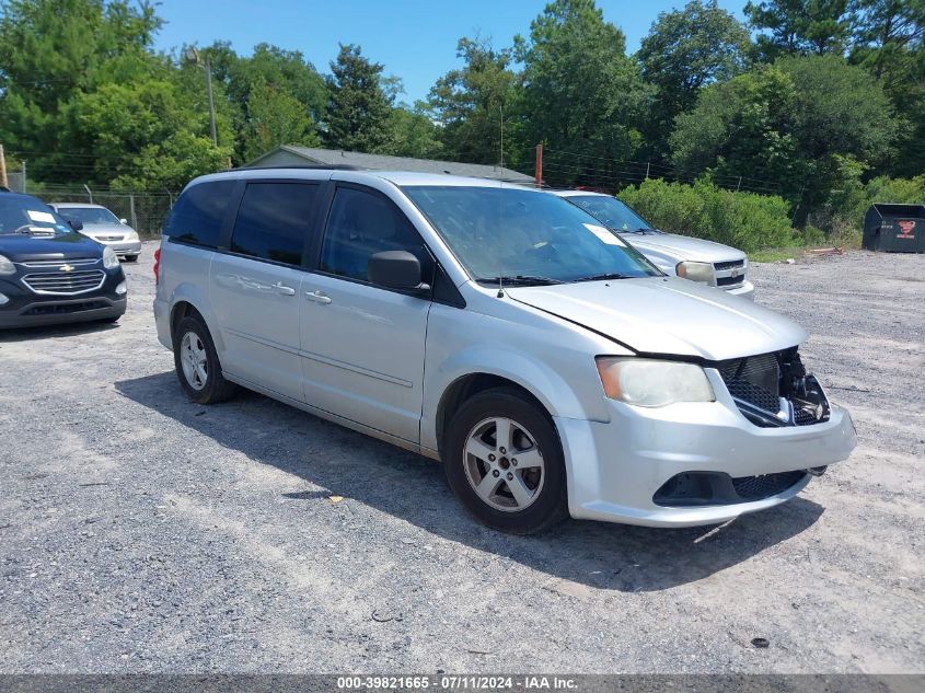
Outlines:
[{"label": "clear blue sky above the treetops", "polygon": [[[321,72],[337,55],[337,44],[355,43],[363,54],[402,78],[400,99],[424,99],[433,82],[460,61],[456,41],[490,36],[495,46],[527,35],[545,0],[161,0],[166,20],[157,47],[230,41],[248,55],[258,43],[301,50]],[[742,18],[743,0],[720,0]],[[626,34],[631,53],[639,46],[659,12],[684,5],[671,0],[598,0],[604,18]]]}]

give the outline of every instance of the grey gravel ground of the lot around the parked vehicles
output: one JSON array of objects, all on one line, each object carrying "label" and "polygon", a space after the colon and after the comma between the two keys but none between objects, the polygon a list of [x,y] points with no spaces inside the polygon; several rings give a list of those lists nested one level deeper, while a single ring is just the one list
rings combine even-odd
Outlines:
[{"label": "grey gravel ground of the lot around the parked vehicles", "polygon": [[798,498],[512,538],[436,463],[187,402],[152,251],[118,326],[0,335],[0,672],[925,671],[925,256],[754,267],[859,432]]}]

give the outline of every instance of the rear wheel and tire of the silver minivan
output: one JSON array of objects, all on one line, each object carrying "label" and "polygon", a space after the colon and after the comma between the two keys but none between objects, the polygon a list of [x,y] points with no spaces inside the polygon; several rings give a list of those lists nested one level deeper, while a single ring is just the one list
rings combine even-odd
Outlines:
[{"label": "rear wheel and tire of the silver minivan", "polygon": [[181,320],[173,343],[176,377],[186,396],[198,404],[215,404],[234,395],[238,388],[222,376],[216,345],[201,317]]}]

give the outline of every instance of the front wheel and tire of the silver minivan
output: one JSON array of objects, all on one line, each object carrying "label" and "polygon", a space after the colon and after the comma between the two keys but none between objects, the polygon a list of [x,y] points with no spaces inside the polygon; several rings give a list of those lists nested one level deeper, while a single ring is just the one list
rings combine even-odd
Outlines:
[{"label": "front wheel and tire of the silver minivan", "polygon": [[[498,440],[499,424],[507,444]],[[450,488],[488,527],[532,534],[568,517],[562,443],[550,415],[524,393],[498,388],[475,395],[453,416],[444,442]]]}]

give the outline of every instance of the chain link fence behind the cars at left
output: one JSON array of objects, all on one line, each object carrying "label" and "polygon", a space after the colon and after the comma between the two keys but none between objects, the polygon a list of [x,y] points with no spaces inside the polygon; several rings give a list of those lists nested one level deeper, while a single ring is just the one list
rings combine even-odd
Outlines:
[{"label": "chain link fence behind the cars at left", "polygon": [[153,239],[174,203],[170,193],[134,193],[126,190],[94,190],[76,186],[27,185],[28,194],[45,203],[88,203],[102,205],[126,222],[142,238]]}]

